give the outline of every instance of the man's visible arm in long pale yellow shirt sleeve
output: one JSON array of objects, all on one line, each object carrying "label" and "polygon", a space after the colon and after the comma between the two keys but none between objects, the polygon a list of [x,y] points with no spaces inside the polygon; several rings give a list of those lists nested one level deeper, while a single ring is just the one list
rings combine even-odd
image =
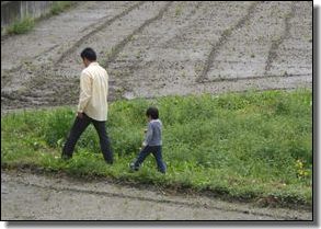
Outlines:
[{"label": "man's visible arm in long pale yellow shirt sleeve", "polygon": [[90,98],[92,96],[92,82],[89,75],[82,72],[80,77],[80,96],[78,104],[78,114],[83,113]]}]

